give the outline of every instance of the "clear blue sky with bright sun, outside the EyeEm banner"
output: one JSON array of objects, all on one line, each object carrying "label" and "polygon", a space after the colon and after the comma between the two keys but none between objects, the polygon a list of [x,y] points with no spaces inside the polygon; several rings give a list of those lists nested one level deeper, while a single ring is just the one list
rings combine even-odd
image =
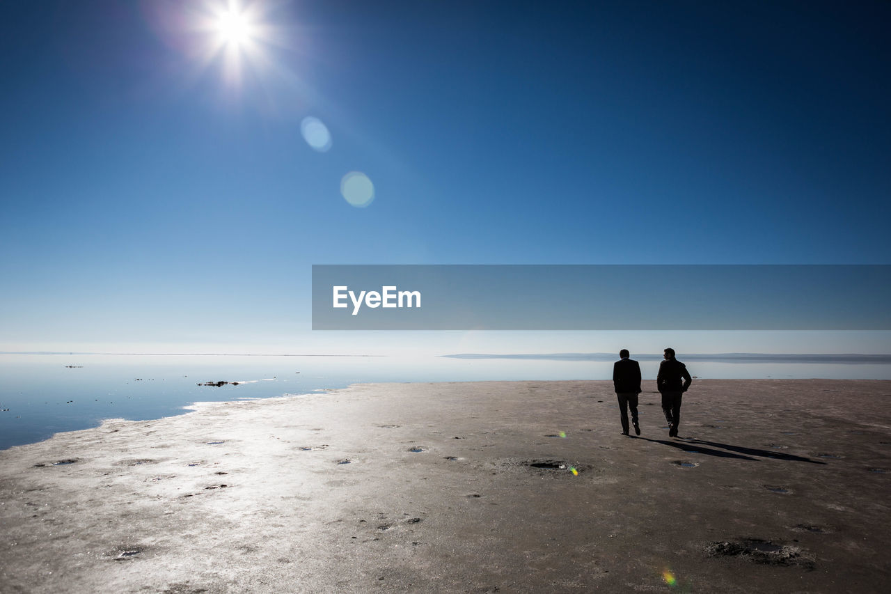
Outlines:
[{"label": "clear blue sky with bright sun, outside the EyeEm banner", "polygon": [[[889,264],[889,29],[884,1],[4,2],[0,351],[612,351],[313,333],[310,267]],[[891,351],[744,335],[626,342]]]}]

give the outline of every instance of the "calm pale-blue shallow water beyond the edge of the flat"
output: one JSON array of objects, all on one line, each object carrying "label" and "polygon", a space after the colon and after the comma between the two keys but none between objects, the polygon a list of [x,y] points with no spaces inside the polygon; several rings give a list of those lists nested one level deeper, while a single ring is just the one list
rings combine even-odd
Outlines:
[{"label": "calm pale-blue shallow water beyond the edge of the flat", "polygon": [[[657,360],[642,360],[644,380]],[[711,379],[891,379],[888,364],[692,361]],[[612,361],[446,357],[0,354],[0,449],[61,431],[187,412],[193,402],[306,394],[363,382],[609,380]],[[221,386],[198,385],[230,382]]]}]

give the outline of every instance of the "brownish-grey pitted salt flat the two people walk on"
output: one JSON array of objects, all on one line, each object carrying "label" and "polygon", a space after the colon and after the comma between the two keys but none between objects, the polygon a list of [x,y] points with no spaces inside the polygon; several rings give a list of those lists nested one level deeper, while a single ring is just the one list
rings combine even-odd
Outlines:
[{"label": "brownish-grey pitted salt flat the two people walk on", "polygon": [[[0,452],[3,592],[884,592],[891,382],[357,384]],[[575,471],[575,472],[574,472]]]}]

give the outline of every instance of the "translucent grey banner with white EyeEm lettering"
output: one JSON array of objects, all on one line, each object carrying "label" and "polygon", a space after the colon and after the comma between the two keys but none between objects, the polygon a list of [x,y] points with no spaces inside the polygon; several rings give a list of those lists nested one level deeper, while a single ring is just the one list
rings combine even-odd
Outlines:
[{"label": "translucent grey banner with white EyeEm lettering", "polygon": [[319,265],[314,330],[889,330],[891,265]]}]

